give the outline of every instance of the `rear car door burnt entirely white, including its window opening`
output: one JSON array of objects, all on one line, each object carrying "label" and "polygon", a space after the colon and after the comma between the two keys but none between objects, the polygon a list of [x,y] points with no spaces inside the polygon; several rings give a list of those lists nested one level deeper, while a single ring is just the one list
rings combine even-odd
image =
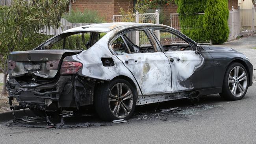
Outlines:
[{"label": "rear car door burnt entirely white, including its window opening", "polygon": [[147,29],[118,35],[111,48],[132,72],[143,95],[172,92],[169,61]]}]

